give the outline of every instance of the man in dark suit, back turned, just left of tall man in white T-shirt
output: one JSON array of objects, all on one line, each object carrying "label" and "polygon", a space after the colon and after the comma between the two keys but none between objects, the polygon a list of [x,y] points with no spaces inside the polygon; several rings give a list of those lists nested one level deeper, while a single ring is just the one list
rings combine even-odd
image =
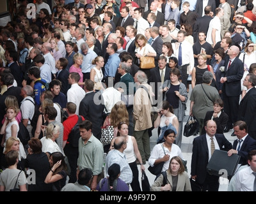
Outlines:
[{"label": "man in dark suit, back turned, just left of tall man in white T-shirt", "polygon": [[205,6],[204,16],[196,19],[194,29],[193,29],[194,42],[198,41],[199,32],[204,31],[204,33],[207,33],[209,28],[209,23],[212,20],[212,17],[210,16],[211,11],[212,11],[211,6]]}]

